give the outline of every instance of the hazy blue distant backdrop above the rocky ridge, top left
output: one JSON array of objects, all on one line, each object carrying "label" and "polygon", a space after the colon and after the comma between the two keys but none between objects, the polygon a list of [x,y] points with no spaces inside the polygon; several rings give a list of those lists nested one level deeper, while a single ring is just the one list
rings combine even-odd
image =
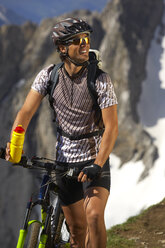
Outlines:
[{"label": "hazy blue distant backdrop above the rocky ridge, top left", "polygon": [[70,0],[69,4],[67,0],[51,1],[46,2],[36,0],[35,2],[30,1],[16,1],[13,0],[1,0],[1,5],[5,8],[9,8],[14,11],[17,15],[23,16],[26,20],[35,23],[40,23],[45,18],[53,18],[63,15],[68,12],[75,10],[90,10],[101,12],[106,6],[107,0]]}]

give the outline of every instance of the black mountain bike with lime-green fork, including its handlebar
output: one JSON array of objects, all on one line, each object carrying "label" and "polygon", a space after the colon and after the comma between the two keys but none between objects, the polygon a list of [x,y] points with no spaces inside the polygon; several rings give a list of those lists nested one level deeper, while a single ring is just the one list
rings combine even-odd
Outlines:
[{"label": "black mountain bike with lime-green fork, including its handlebar", "polygon": [[[5,159],[5,148],[0,148],[0,158]],[[44,162],[46,160],[46,162]],[[58,164],[55,164],[53,160],[47,159],[47,158],[40,158],[40,157],[33,157],[31,160],[28,160],[26,156],[22,156],[21,162],[18,164],[15,164],[18,166],[22,166],[24,168],[41,168],[46,170],[46,174],[42,178],[42,183],[39,190],[39,195],[37,200],[33,201],[32,197],[30,201],[27,203],[26,207],[26,213],[24,218],[24,223],[22,229],[20,229],[18,242],[16,248],[24,248],[25,247],[25,240],[28,234],[29,226],[31,226],[33,223],[38,223],[38,227],[35,227],[35,236],[33,238],[36,238],[39,236],[39,244],[38,248],[46,248],[46,246],[49,245],[49,248],[70,248],[70,243],[68,242],[68,239],[65,241],[63,238],[61,239],[61,225],[63,223],[64,216],[63,211],[61,209],[60,201],[58,198],[58,186],[54,185],[54,188],[52,189],[51,184],[51,172],[56,171],[56,168],[58,167]],[[65,176],[69,177],[77,177],[77,171],[76,168],[69,168],[68,171],[66,171],[65,168],[62,168],[61,166],[57,168],[57,171],[60,171],[61,173],[65,172]],[[51,187],[51,188],[50,188]],[[57,202],[56,207],[54,208],[52,205],[50,205],[50,191],[54,191],[57,193]],[[39,205],[41,207],[41,221],[34,219],[30,220],[31,213],[33,210],[33,207],[36,205]],[[62,218],[61,218],[62,217]],[[67,224],[66,224],[67,225]],[[41,229],[41,233],[38,233],[38,228]],[[51,230],[50,230],[51,229]],[[68,228],[67,228],[68,229]],[[32,241],[33,238],[30,240]],[[48,240],[49,238],[49,240]],[[34,245],[35,245],[34,239]],[[48,240],[48,244],[47,244]],[[50,244],[49,244],[50,242]],[[31,243],[30,243],[31,245]]]}]

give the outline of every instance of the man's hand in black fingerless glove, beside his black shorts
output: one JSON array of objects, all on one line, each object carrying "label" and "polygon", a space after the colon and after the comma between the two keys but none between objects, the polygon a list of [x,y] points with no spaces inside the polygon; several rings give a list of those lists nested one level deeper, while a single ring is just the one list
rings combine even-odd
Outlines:
[{"label": "man's hand in black fingerless glove, beside his black shorts", "polygon": [[101,171],[101,166],[99,166],[97,164],[85,166],[78,176],[78,181],[79,182],[85,182],[87,180],[88,181],[93,180],[94,178],[96,178],[100,174],[100,171]]}]

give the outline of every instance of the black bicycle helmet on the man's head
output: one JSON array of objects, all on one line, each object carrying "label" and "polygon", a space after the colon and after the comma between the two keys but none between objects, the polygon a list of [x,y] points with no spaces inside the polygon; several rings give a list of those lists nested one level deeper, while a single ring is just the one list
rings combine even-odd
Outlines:
[{"label": "black bicycle helmet on the man's head", "polygon": [[53,28],[52,38],[55,45],[65,43],[73,36],[81,33],[91,33],[91,26],[81,19],[67,18],[58,22]]}]

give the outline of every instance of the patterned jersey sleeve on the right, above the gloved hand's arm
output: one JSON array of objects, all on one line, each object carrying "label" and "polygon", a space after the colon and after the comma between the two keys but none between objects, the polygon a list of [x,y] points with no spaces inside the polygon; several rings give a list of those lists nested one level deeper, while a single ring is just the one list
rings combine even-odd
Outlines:
[{"label": "patterned jersey sleeve on the right, above the gloved hand's arm", "polygon": [[98,104],[101,109],[118,104],[111,78],[107,73],[102,73],[96,79],[96,91],[98,93]]}]

